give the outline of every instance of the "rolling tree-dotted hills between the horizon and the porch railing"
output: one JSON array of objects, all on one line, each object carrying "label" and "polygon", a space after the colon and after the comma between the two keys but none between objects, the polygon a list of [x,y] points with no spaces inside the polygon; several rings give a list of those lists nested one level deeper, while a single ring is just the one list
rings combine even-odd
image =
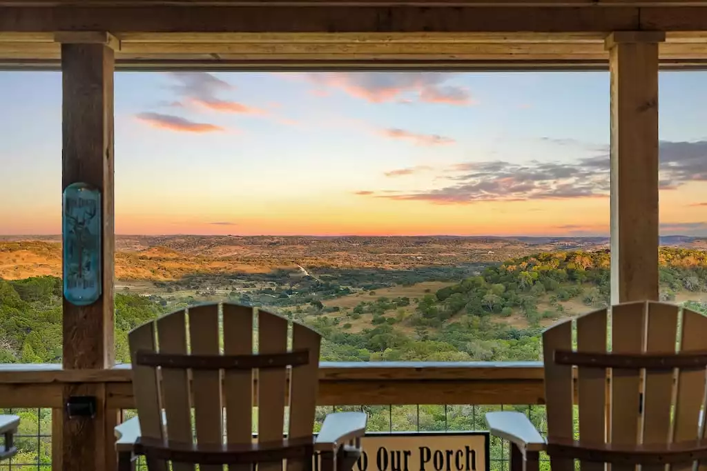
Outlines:
[{"label": "rolling tree-dotted hills between the horizon and the porch railing", "polygon": [[[537,359],[542,327],[609,302],[607,249],[555,249],[493,262],[484,256],[533,246],[453,237],[226,239],[169,237],[117,254],[119,358],[127,358],[124,338],[137,323],[228,299],[315,326],[327,339],[322,357],[332,361]],[[189,254],[194,244],[211,253],[241,249],[239,255],[195,256]],[[5,361],[57,361],[60,258],[57,242],[0,242]],[[374,260],[378,266],[368,266]],[[660,263],[662,299],[707,304],[707,252],[662,247]]]}]

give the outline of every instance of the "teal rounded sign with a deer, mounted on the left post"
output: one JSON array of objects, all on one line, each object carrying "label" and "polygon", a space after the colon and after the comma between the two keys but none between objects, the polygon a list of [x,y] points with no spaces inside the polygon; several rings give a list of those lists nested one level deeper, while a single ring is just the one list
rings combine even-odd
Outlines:
[{"label": "teal rounded sign with a deer, mounted on the left post", "polygon": [[103,290],[100,191],[88,184],[71,184],[64,190],[63,205],[64,297],[86,306],[98,301]]}]

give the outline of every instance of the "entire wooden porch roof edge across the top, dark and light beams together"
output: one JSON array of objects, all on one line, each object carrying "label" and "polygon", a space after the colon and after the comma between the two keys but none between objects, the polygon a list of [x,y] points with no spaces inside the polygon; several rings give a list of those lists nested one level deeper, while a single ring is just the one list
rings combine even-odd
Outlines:
[{"label": "entire wooden porch roof edge across the top, dark and light beams together", "polygon": [[0,68],[58,68],[55,32],[100,31],[118,69],[602,69],[614,30],[707,67],[707,1],[0,0]]}]

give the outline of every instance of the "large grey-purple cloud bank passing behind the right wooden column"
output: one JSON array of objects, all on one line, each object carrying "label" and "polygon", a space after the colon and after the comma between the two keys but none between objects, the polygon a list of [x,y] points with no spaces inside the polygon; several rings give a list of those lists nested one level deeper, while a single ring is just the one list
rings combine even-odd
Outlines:
[{"label": "large grey-purple cloud bank passing behind the right wooden column", "polygon": [[[461,162],[440,169],[439,173],[443,175],[440,178],[449,182],[446,186],[416,193],[387,195],[377,192],[370,196],[437,204],[609,196],[606,146],[585,145],[569,139],[553,142],[593,148],[597,155],[575,162]],[[689,181],[707,181],[707,141],[661,142],[660,189],[677,189]]]}]

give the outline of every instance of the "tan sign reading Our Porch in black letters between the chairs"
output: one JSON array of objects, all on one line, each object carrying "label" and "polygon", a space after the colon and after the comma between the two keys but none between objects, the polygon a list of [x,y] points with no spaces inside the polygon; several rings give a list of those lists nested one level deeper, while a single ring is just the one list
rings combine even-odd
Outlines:
[{"label": "tan sign reading Our Porch in black letters between the chairs", "polygon": [[489,432],[366,434],[353,471],[489,471]]}]

